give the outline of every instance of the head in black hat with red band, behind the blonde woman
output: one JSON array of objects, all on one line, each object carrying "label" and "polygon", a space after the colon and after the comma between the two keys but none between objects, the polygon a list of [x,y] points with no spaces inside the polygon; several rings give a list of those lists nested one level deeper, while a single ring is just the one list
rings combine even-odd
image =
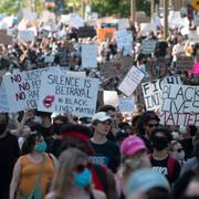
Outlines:
[{"label": "head in black hat with red band, behind the blonde woman", "polygon": [[66,124],[61,127],[60,135],[62,136],[60,154],[70,147],[74,147],[92,155],[93,149],[88,143],[92,136],[91,128],[84,125]]}]

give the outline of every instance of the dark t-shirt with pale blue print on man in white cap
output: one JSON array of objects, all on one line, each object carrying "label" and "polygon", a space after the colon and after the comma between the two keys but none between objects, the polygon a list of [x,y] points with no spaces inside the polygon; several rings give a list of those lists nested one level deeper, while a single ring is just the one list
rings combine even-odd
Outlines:
[{"label": "dark t-shirt with pale blue print on man in white cap", "polygon": [[121,163],[118,146],[111,140],[107,140],[104,144],[95,144],[90,140],[90,144],[94,149],[94,154],[90,156],[92,163],[106,165],[113,172],[116,172]]}]

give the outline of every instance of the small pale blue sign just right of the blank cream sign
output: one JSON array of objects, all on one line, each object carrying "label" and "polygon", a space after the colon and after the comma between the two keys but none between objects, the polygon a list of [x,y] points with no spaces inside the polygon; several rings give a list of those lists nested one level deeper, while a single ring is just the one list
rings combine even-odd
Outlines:
[{"label": "small pale blue sign just right of the blank cream sign", "polygon": [[135,105],[134,97],[119,98],[118,107],[121,112],[132,113],[134,111],[134,105]]}]

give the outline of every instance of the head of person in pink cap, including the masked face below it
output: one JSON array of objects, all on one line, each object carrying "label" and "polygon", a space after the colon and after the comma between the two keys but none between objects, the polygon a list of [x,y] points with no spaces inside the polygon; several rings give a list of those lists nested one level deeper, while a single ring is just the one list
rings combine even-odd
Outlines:
[{"label": "head of person in pink cap, including the masked face below it", "polygon": [[139,168],[150,167],[147,148],[142,138],[128,136],[121,145],[122,168],[124,176],[128,176]]}]

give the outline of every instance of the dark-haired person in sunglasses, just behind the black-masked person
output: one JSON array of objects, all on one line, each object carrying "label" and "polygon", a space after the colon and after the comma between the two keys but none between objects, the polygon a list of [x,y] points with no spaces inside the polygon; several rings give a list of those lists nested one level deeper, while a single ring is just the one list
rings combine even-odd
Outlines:
[{"label": "dark-haired person in sunglasses, just behind the black-masked person", "polygon": [[159,126],[159,117],[153,111],[144,112],[137,121],[137,135],[145,142],[148,153],[153,153],[151,133]]}]

